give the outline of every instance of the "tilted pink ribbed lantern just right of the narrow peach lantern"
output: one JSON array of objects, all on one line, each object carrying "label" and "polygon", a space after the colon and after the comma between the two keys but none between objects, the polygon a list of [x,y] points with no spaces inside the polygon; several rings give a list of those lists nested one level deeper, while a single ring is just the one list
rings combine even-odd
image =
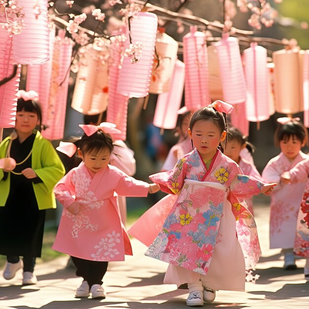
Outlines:
[{"label": "tilted pink ribbed lantern just right of the narrow peach lantern", "polygon": [[223,99],[235,105],[246,101],[246,83],[238,40],[223,34],[215,43],[219,57]]}]

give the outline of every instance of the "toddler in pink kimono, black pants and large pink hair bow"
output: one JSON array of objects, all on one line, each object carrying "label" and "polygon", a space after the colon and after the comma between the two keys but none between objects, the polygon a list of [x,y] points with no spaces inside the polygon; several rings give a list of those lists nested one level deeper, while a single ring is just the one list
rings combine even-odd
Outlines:
[{"label": "toddler in pink kimono, black pants and large pink hair bow", "polygon": [[116,125],[79,126],[85,132],[77,150],[83,162],[55,187],[64,209],[52,248],[71,255],[77,276],[83,277],[77,298],[91,293],[92,298],[105,299],[102,278],[108,261],[123,261],[124,254],[132,255],[115,193],[147,196],[159,188],[109,165],[113,141],[108,133],[116,132]]}]

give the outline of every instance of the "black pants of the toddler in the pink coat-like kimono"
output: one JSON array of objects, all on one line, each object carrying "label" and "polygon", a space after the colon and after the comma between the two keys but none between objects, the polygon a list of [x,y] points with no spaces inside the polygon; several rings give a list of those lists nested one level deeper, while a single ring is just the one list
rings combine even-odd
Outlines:
[{"label": "black pants of the toddler in the pink coat-like kimono", "polygon": [[107,271],[108,262],[89,261],[76,257],[71,258],[77,268],[76,275],[83,277],[88,282],[90,288],[93,284],[102,285],[102,279]]}]

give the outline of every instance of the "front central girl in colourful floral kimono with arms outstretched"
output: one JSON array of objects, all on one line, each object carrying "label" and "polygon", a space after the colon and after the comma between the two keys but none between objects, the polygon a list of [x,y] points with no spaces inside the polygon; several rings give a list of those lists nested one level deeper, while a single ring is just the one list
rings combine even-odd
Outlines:
[{"label": "front central girl in colourful floral kimono with arms outstretched", "polygon": [[164,283],[188,283],[187,306],[214,301],[215,290],[244,290],[245,262],[235,220],[243,229],[238,239],[249,237],[246,249],[253,265],[260,256],[255,222],[238,199],[270,193],[275,184],[242,175],[219,150],[227,134],[225,113],[231,108],[215,101],[196,111],[189,128],[194,150],[172,171],[150,176],[162,191],[178,198],[145,254],[169,263]]}]

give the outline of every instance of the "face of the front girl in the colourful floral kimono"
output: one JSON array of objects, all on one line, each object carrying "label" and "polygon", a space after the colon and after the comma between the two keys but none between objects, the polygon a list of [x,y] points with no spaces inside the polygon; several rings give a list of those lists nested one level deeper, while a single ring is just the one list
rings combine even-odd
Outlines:
[{"label": "face of the front girl in the colourful floral kimono", "polygon": [[197,120],[188,133],[201,157],[209,160],[216,154],[220,142],[225,140],[227,131],[221,133],[211,120]]}]

